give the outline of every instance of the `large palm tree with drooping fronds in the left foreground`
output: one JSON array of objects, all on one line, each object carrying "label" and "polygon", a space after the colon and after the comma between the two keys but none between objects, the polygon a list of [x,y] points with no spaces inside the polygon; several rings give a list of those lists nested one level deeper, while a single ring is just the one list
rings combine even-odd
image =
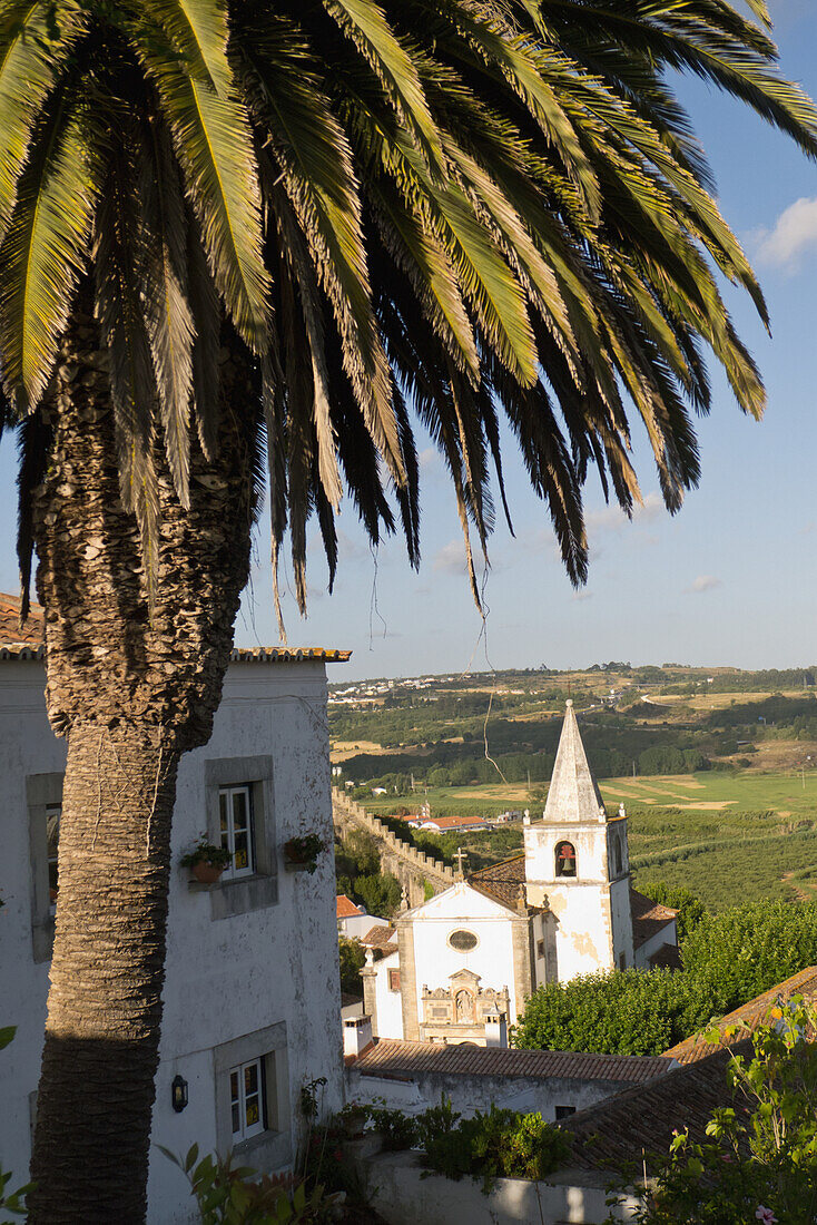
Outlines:
[{"label": "large palm tree with drooping fronds in the left foreground", "polygon": [[763,298],[668,82],[815,156],[750,5],[0,0],[0,420],[69,741],[34,1225],[145,1216],[175,773],[209,736],[265,453],[303,609],[307,519],[333,576],[344,489],[416,565],[416,417],[478,598],[503,429],[581,582],[589,470],[639,497],[630,417],[675,511],[704,349],[762,412],[718,274]]}]

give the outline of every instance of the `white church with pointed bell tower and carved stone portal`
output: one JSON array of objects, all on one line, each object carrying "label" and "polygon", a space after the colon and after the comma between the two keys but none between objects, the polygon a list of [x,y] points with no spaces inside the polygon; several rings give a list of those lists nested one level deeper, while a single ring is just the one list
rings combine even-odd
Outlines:
[{"label": "white church with pointed bell tower and carved stone portal", "polygon": [[403,910],[367,952],[364,1012],[378,1038],[507,1045],[507,1027],[546,982],[677,967],[676,911],[630,884],[627,816],[609,816],[573,703],[541,821],[524,853]]}]

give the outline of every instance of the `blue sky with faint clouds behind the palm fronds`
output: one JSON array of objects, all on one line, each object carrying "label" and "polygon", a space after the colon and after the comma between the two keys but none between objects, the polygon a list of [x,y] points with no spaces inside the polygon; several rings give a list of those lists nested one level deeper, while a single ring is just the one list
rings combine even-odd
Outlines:
[{"label": "blue sky with faint clouds behind the palm fronds", "polygon": [[[813,0],[772,5],[784,72],[817,96]],[[506,459],[512,539],[500,523],[486,581],[486,635],[462,567],[453,496],[440,462],[423,450],[423,565],[399,540],[375,561],[354,510],[339,518],[334,594],[315,548],[309,617],[287,594],[290,644],[350,647],[332,679],[496,668],[585,666],[606,659],[746,668],[817,662],[817,165],[745,108],[682,81],[714,168],[721,209],[752,258],[772,312],[769,339],[736,295],[739,331],[768,390],[761,424],[744,418],[712,366],[715,403],[699,423],[701,488],[675,518],[661,508],[643,439],[636,463],[644,507],[632,523],[608,508],[590,478],[587,587],[574,593],[557,560],[546,511]],[[425,446],[425,443],[421,443]],[[0,445],[0,589],[13,590],[13,448]],[[268,541],[262,524],[251,588],[236,625],[240,644],[274,643]]]}]

